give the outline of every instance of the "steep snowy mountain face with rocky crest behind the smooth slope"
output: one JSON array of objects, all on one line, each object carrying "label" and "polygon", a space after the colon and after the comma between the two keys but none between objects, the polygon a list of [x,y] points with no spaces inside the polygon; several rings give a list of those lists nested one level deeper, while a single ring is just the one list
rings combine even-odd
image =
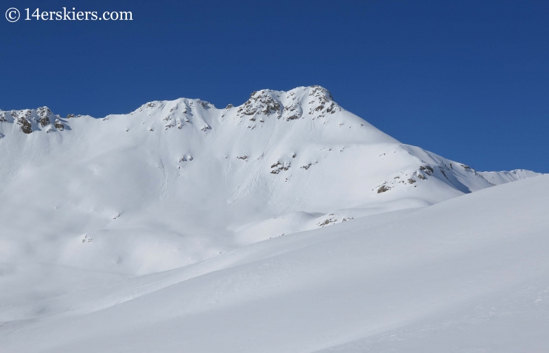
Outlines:
[{"label": "steep snowy mountain face with rocky crest behind the smooth slope", "polygon": [[0,256],[14,287],[24,276],[13,264],[152,273],[496,184],[399,143],[320,86],[222,109],[152,101],[103,119],[0,112],[0,136]]}]

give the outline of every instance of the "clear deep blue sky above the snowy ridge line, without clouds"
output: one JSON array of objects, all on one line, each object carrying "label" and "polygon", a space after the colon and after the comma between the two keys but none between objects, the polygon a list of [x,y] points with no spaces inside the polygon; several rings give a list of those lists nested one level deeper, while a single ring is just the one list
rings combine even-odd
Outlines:
[{"label": "clear deep blue sky above the snowy ridge line, without clouds", "polygon": [[[0,19],[0,108],[218,107],[320,84],[404,143],[478,170],[549,173],[547,1],[19,1]],[[131,11],[133,21],[20,21]]]}]

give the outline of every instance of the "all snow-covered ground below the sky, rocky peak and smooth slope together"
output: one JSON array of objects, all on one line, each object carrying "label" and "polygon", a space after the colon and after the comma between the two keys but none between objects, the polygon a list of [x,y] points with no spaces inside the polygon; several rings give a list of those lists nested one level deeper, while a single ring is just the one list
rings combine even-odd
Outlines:
[{"label": "all snow-covered ground below the sky, rocky peak and smooth slope together", "polygon": [[1,352],[549,349],[549,175],[399,143],[319,86],[0,111],[0,180]]}]

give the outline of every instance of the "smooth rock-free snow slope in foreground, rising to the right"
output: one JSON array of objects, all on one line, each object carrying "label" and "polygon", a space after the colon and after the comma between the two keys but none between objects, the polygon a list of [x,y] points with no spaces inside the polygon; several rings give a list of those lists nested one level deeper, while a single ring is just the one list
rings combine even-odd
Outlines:
[{"label": "smooth rock-free snow slope in foreground, rising to the right", "polygon": [[549,175],[0,308],[2,352],[545,352]]}]

